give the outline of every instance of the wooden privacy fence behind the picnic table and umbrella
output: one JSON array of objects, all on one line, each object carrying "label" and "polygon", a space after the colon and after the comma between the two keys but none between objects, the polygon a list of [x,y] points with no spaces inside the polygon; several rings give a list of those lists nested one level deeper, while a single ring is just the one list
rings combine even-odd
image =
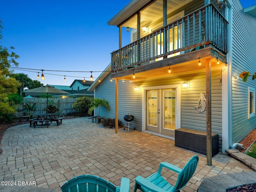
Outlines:
[{"label": "wooden privacy fence behind the picnic table and umbrella", "polygon": [[[48,98],[48,105],[55,105],[59,109],[58,115],[63,116],[69,112],[77,112],[77,110],[72,108],[75,101],[76,98]],[[23,104],[24,103],[28,103],[31,106],[36,103],[37,108],[35,114],[45,113],[46,98],[24,98]],[[23,104],[18,105],[16,113],[17,116],[27,115],[27,113],[24,113],[25,109]]]}]

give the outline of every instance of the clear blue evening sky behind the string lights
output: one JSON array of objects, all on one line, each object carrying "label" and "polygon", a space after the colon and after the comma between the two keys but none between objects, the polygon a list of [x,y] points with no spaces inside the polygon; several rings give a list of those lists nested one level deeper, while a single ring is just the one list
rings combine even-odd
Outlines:
[{"label": "clear blue evening sky behind the string lights", "polygon": [[[130,0],[2,0],[2,46],[14,46],[19,68],[38,69],[25,73],[43,84],[70,85],[75,79],[89,80],[90,73],[46,72],[45,80],[37,79],[44,70],[103,71],[110,63],[110,53],[118,49],[116,26],[107,22]],[[243,7],[256,0],[241,0]],[[123,32],[122,44],[129,43]],[[34,71],[34,70],[32,70]],[[50,74],[58,74],[50,75]],[[93,72],[98,77],[101,72]],[[66,75],[66,81],[64,81]],[[68,77],[79,76],[82,78]],[[94,78],[94,80],[95,80]]]}]

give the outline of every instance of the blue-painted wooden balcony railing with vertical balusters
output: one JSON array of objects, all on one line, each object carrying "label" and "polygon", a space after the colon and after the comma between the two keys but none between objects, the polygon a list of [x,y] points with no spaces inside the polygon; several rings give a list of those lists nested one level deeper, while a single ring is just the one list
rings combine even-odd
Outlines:
[{"label": "blue-painted wooden balcony railing with vertical balusters", "polygon": [[112,52],[111,68],[126,70],[209,44],[228,52],[228,22],[212,4]]}]

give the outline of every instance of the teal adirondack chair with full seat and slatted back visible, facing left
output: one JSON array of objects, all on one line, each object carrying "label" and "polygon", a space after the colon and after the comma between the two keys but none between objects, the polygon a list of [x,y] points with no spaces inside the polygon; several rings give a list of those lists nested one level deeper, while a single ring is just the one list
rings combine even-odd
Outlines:
[{"label": "teal adirondack chair with full seat and slatted back visible, facing left", "polygon": [[[136,192],[137,189],[141,190],[142,192],[175,192],[179,191],[181,188],[183,188],[187,183],[188,180],[192,177],[196,170],[196,166],[198,164],[198,156],[193,156],[187,164],[184,166],[183,169],[178,168],[177,166],[174,166],[167,162],[160,163],[160,166],[158,168],[158,172],[153,173],[152,175],[148,176],[147,178],[143,178],[141,176],[137,176],[135,178],[135,186],[134,186],[134,192]],[[178,180],[175,184],[175,186],[172,186],[170,183],[168,183],[162,176],[161,176],[161,170],[162,168],[168,168],[172,171],[175,171],[178,173]]]}]

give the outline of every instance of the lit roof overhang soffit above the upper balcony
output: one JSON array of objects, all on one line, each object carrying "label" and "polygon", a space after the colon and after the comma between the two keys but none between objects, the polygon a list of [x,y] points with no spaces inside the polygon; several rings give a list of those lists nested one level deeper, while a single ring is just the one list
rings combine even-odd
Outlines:
[{"label": "lit roof overhang soffit above the upper balcony", "polygon": [[[191,1],[192,0],[167,0],[167,14],[174,12]],[[108,22],[108,25],[120,26],[120,24],[123,23],[122,27],[137,28],[136,13],[148,3],[148,0],[131,1]],[[131,16],[133,17],[130,18]],[[140,23],[141,25],[147,26],[152,23],[152,21],[162,20],[162,17],[163,0],[156,0],[154,3],[150,4],[150,6],[140,12]],[[128,18],[130,18],[130,20],[126,21]],[[126,22],[124,23],[124,21]]]}]

